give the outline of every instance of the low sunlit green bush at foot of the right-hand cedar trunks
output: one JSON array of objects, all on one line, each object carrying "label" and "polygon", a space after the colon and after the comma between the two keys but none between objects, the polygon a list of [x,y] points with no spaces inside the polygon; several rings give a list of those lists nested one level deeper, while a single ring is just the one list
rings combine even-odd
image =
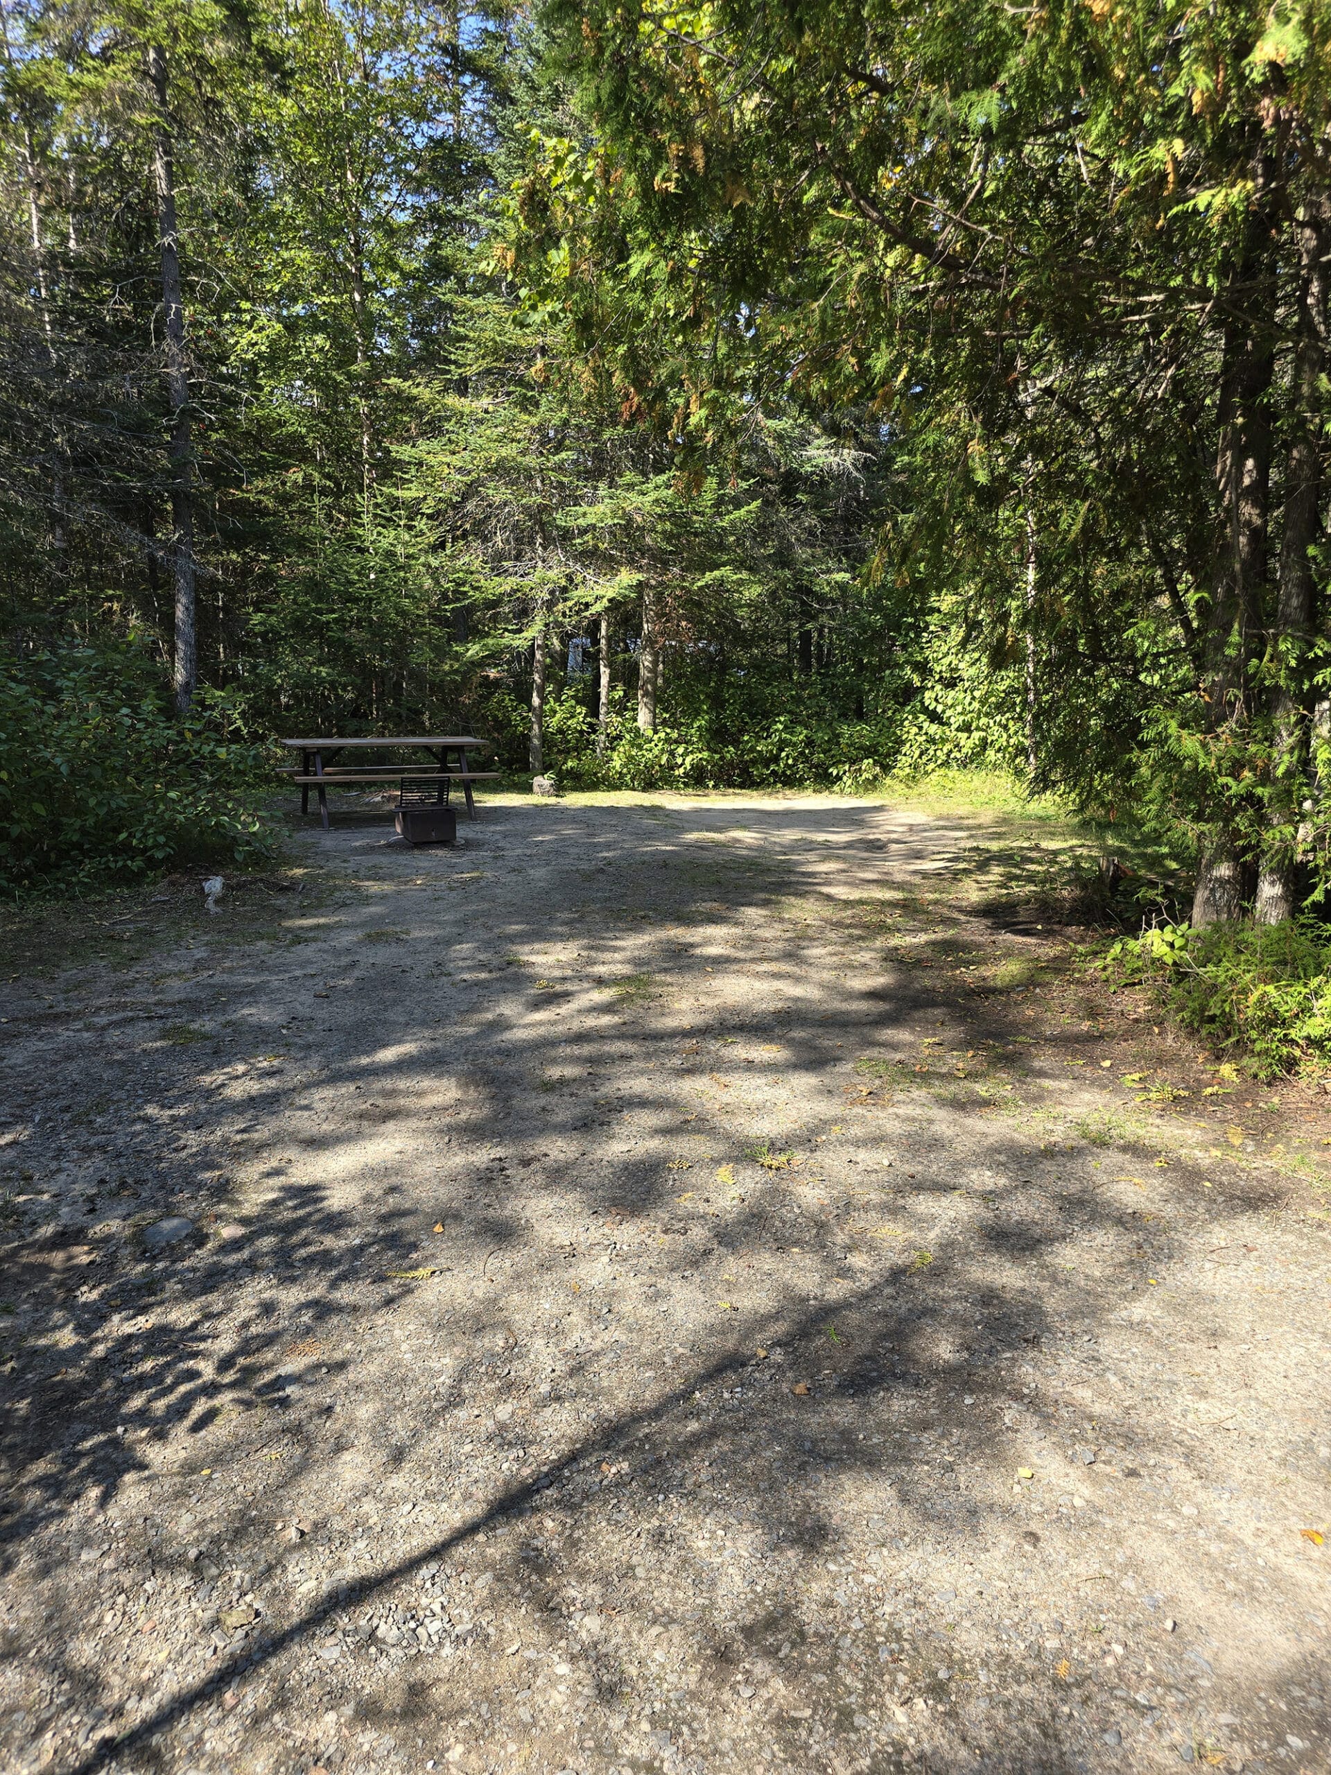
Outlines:
[{"label": "low sunlit green bush at foot of the right-hand cedar trunks", "polygon": [[1285,925],[1161,925],[1122,937],[1104,967],[1150,985],[1182,1024],[1235,1047],[1264,1079],[1331,1058],[1331,941]]}]

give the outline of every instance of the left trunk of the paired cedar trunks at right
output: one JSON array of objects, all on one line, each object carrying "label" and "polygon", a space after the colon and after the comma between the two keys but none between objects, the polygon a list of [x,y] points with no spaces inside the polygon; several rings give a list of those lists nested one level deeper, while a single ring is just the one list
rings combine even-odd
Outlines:
[{"label": "left trunk of the paired cedar trunks at right", "polygon": [[[1271,163],[1255,162],[1256,190],[1242,259],[1230,284],[1219,389],[1216,454],[1217,538],[1212,602],[1203,635],[1207,733],[1216,753],[1251,719],[1251,655],[1267,604],[1267,513],[1271,501],[1271,414],[1274,373],[1274,256]],[[1217,760],[1219,761],[1219,760]],[[1233,813],[1216,799],[1212,840],[1193,895],[1193,925],[1233,923],[1242,914],[1242,857]]]}]

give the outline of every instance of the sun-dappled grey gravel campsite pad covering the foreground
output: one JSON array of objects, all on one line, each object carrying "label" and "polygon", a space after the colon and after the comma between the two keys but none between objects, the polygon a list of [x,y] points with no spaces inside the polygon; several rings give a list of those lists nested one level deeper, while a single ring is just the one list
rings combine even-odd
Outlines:
[{"label": "sun-dappled grey gravel campsite pad covering the foreground", "polygon": [[1331,1099],[997,815],[463,834],[11,962],[0,1766],[1331,1768]]}]

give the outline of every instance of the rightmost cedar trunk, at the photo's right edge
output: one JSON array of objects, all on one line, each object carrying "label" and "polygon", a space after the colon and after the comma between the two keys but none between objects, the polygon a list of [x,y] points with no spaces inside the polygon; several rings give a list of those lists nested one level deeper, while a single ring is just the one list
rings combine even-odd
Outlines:
[{"label": "rightmost cedar trunk, at the photo's right edge", "polygon": [[1313,639],[1313,561],[1320,531],[1322,463],[1319,385],[1327,360],[1327,291],[1331,288],[1331,195],[1319,192],[1296,220],[1299,300],[1294,373],[1290,376],[1290,442],[1285,460],[1285,525],[1280,543],[1280,596],[1271,650],[1276,682],[1271,696],[1272,779],[1267,840],[1256,880],[1260,925],[1294,918],[1299,786],[1306,776],[1306,655]]}]

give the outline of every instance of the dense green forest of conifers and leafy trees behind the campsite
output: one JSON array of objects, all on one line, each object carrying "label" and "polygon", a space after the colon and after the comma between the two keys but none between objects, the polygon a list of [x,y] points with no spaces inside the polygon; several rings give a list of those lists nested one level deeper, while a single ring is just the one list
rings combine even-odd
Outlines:
[{"label": "dense green forest of conifers and leafy trees behind the campsite", "polygon": [[1311,0],[2,5],[11,886],[474,730],[985,763],[1198,923],[1320,893]]}]

